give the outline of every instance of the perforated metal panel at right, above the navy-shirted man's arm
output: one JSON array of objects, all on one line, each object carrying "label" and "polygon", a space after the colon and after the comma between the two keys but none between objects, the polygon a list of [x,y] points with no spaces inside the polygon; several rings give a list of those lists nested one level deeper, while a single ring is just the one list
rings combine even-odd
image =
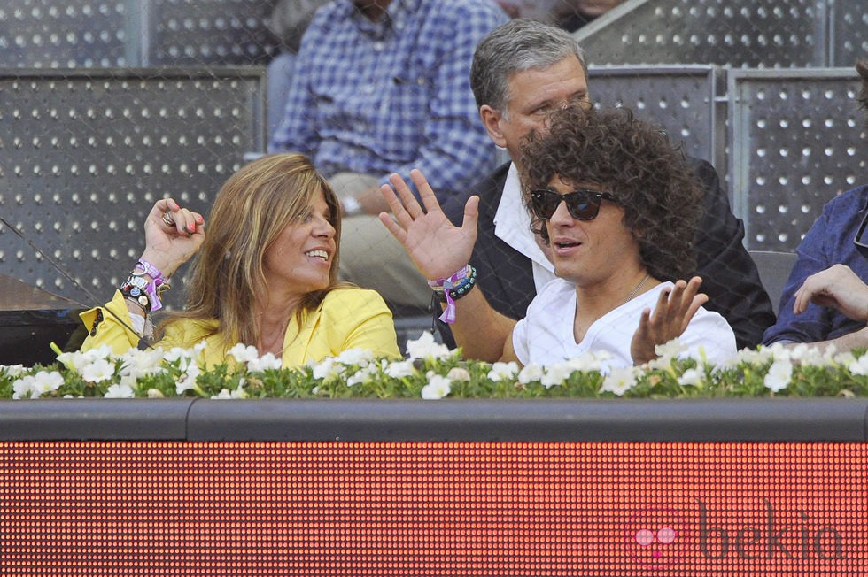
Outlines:
[{"label": "perforated metal panel at right, above the navy-shirted man's arm", "polygon": [[868,182],[852,68],[729,74],[734,210],[752,250],[791,251],[836,194]]}]

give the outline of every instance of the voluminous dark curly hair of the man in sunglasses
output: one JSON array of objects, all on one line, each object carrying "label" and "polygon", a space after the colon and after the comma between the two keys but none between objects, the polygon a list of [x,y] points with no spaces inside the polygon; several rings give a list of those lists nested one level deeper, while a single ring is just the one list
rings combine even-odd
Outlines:
[{"label": "voluminous dark curly hair of the man in sunglasses", "polygon": [[[694,240],[701,182],[660,127],[626,108],[588,111],[570,106],[546,119],[544,135],[523,142],[523,196],[559,177],[606,188],[624,208],[624,226],[639,242],[647,272],[661,281],[694,273]],[[535,234],[549,241],[545,223],[531,212]]]}]

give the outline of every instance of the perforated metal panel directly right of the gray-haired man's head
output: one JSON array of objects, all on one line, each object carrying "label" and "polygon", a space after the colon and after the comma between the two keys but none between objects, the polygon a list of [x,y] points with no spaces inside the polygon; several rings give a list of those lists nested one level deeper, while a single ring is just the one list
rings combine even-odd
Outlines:
[{"label": "perforated metal panel directly right of the gray-haired man's head", "polygon": [[[687,154],[718,164],[715,107],[723,71],[714,66],[590,67],[591,97],[601,106],[625,106],[642,119],[659,123],[670,141]],[[725,82],[723,82],[725,85]],[[723,122],[723,118],[719,119]],[[720,149],[720,150],[718,150]],[[720,163],[723,163],[721,156]],[[725,164],[719,165],[721,173]]]}]

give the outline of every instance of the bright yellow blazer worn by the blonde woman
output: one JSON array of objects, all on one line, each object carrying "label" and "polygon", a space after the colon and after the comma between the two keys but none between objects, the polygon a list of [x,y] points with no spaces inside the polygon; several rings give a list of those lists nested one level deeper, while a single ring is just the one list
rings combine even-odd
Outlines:
[{"label": "bright yellow blazer worn by the blonde woman", "polygon": [[[120,317],[120,321],[115,315]],[[89,330],[81,350],[108,344],[115,354],[120,355],[139,342],[139,335],[128,328],[131,320],[120,291],[115,291],[114,298],[105,306],[82,312],[80,316]],[[100,317],[102,319],[97,323]],[[226,359],[231,346],[221,343],[220,334],[205,336],[216,327],[217,319],[179,319],[166,327],[166,334],[154,346],[166,350],[173,347],[190,349],[205,340],[205,365],[219,365]],[[374,290],[334,289],[322,300],[319,308],[306,315],[301,325],[294,317],[290,319],[283,337],[283,366],[305,365],[308,361],[337,356],[348,349],[370,350],[376,357],[400,358],[391,311],[383,297]]]}]

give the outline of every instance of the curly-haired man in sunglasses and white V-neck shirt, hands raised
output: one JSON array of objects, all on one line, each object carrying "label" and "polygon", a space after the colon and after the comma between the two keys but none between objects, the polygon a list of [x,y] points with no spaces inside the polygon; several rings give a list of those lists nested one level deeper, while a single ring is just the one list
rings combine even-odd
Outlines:
[{"label": "curly-haired man in sunglasses and white V-neck shirt, hands raised", "polygon": [[[550,113],[546,127],[523,146],[523,196],[557,278],[534,297],[499,360],[552,365],[602,352],[610,367],[641,365],[677,337],[711,363],[734,355],[732,328],[701,306],[708,300],[701,279],[681,280],[694,270],[703,196],[685,159],[657,127],[624,109],[567,106]],[[444,296],[458,344],[485,339],[488,320],[478,313],[489,307],[472,290],[468,265],[479,197],[453,227],[422,173],[411,178],[424,211],[393,174],[397,196],[385,186],[383,194],[397,221],[380,219]]]}]

